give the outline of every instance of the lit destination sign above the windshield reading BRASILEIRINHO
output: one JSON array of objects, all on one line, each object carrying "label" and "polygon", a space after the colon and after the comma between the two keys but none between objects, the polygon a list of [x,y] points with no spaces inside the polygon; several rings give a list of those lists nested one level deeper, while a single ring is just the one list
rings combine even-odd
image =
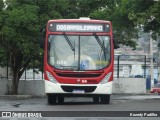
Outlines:
[{"label": "lit destination sign above the windshield reading BRASILEIRINHO", "polygon": [[109,32],[108,24],[91,23],[50,23],[51,32]]}]

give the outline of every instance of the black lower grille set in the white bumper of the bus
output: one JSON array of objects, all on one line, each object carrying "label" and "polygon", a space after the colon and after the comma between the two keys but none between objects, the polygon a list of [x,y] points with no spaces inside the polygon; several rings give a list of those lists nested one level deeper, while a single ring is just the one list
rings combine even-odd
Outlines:
[{"label": "black lower grille set in the white bumper of the bus", "polygon": [[61,86],[65,92],[73,92],[73,90],[84,90],[85,93],[94,92],[96,86]]}]

